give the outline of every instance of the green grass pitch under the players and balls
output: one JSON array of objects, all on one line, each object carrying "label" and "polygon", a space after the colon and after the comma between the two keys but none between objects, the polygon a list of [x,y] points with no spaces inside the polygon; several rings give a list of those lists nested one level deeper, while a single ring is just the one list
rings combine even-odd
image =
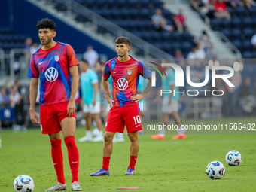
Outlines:
[{"label": "green grass pitch under the players and balls", "polygon": [[[216,123],[219,120],[194,120],[184,123]],[[255,123],[254,118],[229,118],[223,123]],[[35,181],[35,192],[44,191],[56,182],[50,157],[48,136],[40,129],[27,133],[2,130],[0,148],[0,191],[11,192],[14,178],[30,175]],[[78,127],[76,139],[84,136]],[[79,179],[84,191],[116,191],[120,187],[139,187],[139,191],[255,191],[256,135],[187,135],[185,140],[153,141],[149,135],[139,136],[139,155],[135,174],[124,175],[130,162],[130,141],[114,143],[110,175],[90,177],[102,166],[102,142],[77,142],[80,152]],[[228,166],[225,155],[230,150],[242,154],[239,166]],[[68,190],[72,176],[69,169],[66,145],[62,141],[64,171]],[[220,180],[206,175],[206,166],[213,160],[224,163],[226,173]]]}]

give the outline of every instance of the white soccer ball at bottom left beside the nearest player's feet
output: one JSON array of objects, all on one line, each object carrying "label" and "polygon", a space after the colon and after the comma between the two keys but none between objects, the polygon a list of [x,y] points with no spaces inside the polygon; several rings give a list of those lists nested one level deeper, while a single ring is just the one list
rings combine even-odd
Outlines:
[{"label": "white soccer ball at bottom left beside the nearest player's feet", "polygon": [[16,192],[32,192],[35,184],[29,175],[20,175],[14,179],[14,191]]}]

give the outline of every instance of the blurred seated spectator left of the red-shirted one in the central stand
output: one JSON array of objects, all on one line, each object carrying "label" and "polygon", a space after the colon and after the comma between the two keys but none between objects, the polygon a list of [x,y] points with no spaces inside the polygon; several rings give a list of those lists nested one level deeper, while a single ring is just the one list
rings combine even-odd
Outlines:
[{"label": "blurred seated spectator left of the red-shirted one in the central stand", "polygon": [[166,30],[172,32],[173,27],[166,25],[166,18],[163,17],[162,10],[160,8],[156,9],[155,14],[151,17],[151,23],[154,26],[154,29],[157,31]]}]

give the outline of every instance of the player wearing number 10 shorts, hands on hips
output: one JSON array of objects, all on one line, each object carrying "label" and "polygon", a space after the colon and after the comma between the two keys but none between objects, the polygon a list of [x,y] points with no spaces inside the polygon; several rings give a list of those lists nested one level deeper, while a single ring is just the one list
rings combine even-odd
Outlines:
[{"label": "player wearing number 10 shorts, hands on hips", "polygon": [[[151,71],[139,60],[128,54],[130,39],[119,37],[115,41],[117,57],[105,64],[102,86],[110,106],[108,119],[105,124],[103,145],[103,166],[91,176],[109,175],[109,161],[113,151],[113,137],[116,132],[123,133],[124,126],[131,141],[130,165],[125,175],[134,175],[135,164],[139,151],[138,130],[142,130],[138,102],[151,90]],[[113,99],[109,93],[108,78],[112,76]],[[141,94],[136,94],[139,84],[139,75],[148,78],[148,84]]]}]

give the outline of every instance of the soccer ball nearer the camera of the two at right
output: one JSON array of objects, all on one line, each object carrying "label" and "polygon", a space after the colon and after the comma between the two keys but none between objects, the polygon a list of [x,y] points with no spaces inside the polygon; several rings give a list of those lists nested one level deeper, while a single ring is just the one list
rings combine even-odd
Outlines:
[{"label": "soccer ball nearer the camera of the two at right", "polygon": [[220,179],[223,178],[225,175],[225,166],[220,161],[215,160],[206,166],[206,174],[209,178],[212,179]]}]

